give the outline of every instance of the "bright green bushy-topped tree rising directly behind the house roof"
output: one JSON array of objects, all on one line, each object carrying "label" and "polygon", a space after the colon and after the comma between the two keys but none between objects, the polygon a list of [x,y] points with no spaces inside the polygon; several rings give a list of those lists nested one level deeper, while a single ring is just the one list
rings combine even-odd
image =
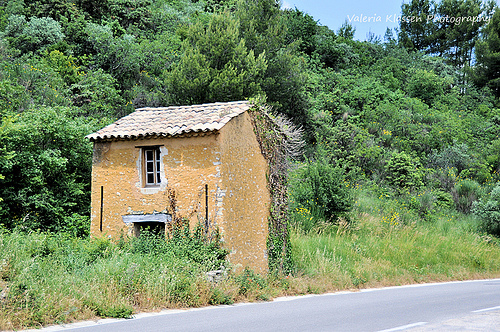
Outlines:
[{"label": "bright green bushy-topped tree rising directly behind the house roof", "polygon": [[166,75],[176,104],[241,100],[262,92],[267,67],[264,53],[255,56],[239,35],[228,12],[214,14],[207,27],[186,32],[184,54]]}]

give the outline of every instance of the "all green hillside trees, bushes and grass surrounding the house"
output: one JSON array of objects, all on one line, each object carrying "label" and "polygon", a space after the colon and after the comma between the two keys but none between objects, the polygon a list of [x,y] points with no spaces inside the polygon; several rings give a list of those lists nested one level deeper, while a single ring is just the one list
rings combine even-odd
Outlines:
[{"label": "all green hillside trees, bushes and grass surrounding the house", "polygon": [[[500,9],[412,0],[401,14],[483,19],[358,41],[275,0],[0,0],[0,329],[498,277]],[[219,243],[185,235],[192,247],[164,257],[169,241],[88,239],[85,135],[143,106],[244,99],[304,133],[289,266],[214,285]]]}]

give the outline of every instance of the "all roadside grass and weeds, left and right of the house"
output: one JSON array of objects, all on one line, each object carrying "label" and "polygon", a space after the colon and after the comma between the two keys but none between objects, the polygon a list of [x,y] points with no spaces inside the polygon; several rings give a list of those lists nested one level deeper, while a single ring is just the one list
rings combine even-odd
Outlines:
[{"label": "all roadside grass and weeds, left and right of the house", "polygon": [[[479,220],[448,209],[449,202],[435,193],[403,199],[360,189],[349,220],[315,221],[311,213],[296,211],[291,275],[262,276],[227,266],[227,252],[218,241],[207,242],[201,229],[180,229],[169,241],[146,232],[118,243],[0,231],[0,330],[284,295],[499,277],[498,239],[478,233]],[[301,217],[308,219],[307,231],[299,227]],[[227,275],[209,281],[206,272],[222,264]]]}]

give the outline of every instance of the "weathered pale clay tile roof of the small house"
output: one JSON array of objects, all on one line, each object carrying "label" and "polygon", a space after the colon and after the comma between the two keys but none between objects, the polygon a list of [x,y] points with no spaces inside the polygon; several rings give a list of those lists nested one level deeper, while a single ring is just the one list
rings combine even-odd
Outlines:
[{"label": "weathered pale clay tile roof of the small house", "polygon": [[248,101],[192,106],[144,107],[87,136],[91,141],[176,136],[220,130],[247,111]]}]

